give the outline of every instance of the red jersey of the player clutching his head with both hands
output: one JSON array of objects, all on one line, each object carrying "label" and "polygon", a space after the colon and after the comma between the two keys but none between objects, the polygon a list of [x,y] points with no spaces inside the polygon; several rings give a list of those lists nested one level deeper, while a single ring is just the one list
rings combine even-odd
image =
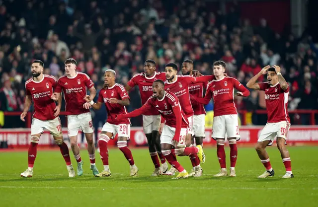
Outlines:
[{"label": "red jersey of the player clutching his head with both hands", "polygon": [[277,123],[281,121],[290,122],[288,115],[289,86],[286,90],[280,84],[269,85],[267,82],[259,83],[260,90],[265,91],[265,103],[267,122]]}]

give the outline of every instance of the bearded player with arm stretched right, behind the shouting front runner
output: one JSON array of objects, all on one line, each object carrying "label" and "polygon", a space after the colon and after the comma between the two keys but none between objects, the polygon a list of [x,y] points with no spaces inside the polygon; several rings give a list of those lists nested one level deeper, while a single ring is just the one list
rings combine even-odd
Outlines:
[{"label": "bearded player with arm stretched right, behind the shouting front runner", "polygon": [[[189,94],[189,85],[198,83],[198,82],[208,82],[215,78],[214,75],[200,76],[200,77],[191,77],[189,75],[177,75],[178,67],[174,63],[169,63],[165,66],[165,86],[164,89],[168,92],[174,93],[180,100],[180,106],[184,111],[185,116],[188,119],[189,123],[189,132],[186,138],[187,146],[191,145],[191,137],[193,135],[193,109],[190,101]],[[161,121],[160,130],[162,129]],[[196,166],[197,176],[202,174],[202,168],[200,166],[200,160],[195,154],[191,154],[190,158],[193,160],[194,165]],[[205,157],[203,158],[203,163],[205,161]],[[168,175],[172,175],[175,172],[175,168],[171,167],[167,172]]]}]

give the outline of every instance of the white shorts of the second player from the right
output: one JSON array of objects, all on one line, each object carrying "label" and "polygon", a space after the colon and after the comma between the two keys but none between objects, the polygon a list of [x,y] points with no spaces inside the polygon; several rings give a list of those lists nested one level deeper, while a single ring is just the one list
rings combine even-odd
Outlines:
[{"label": "white shorts of the second player from the right", "polygon": [[214,139],[225,138],[226,134],[228,138],[240,139],[239,119],[237,114],[213,117],[211,137]]}]

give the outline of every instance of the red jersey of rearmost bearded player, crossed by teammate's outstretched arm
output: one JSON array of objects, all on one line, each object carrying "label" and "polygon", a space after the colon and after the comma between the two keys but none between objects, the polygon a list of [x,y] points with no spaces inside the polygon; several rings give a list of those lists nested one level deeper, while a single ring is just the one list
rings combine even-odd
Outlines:
[{"label": "red jersey of rearmost bearded player, crossed by teammate's outstretched arm", "polygon": [[[202,98],[203,97],[203,88],[207,87],[207,82],[198,82],[189,84],[189,93],[194,98]],[[204,105],[195,101],[195,99],[191,99],[192,109],[194,111],[194,115],[206,114]]]}]

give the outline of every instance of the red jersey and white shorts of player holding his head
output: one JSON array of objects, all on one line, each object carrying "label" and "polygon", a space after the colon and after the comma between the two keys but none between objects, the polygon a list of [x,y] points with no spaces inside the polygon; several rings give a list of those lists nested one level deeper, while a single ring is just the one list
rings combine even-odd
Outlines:
[{"label": "red jersey and white shorts of player holding his head", "polygon": [[273,141],[276,137],[286,140],[290,128],[288,115],[289,86],[286,90],[280,84],[269,85],[267,82],[259,83],[260,90],[265,91],[265,103],[267,112],[267,124],[263,128],[258,141]]}]

